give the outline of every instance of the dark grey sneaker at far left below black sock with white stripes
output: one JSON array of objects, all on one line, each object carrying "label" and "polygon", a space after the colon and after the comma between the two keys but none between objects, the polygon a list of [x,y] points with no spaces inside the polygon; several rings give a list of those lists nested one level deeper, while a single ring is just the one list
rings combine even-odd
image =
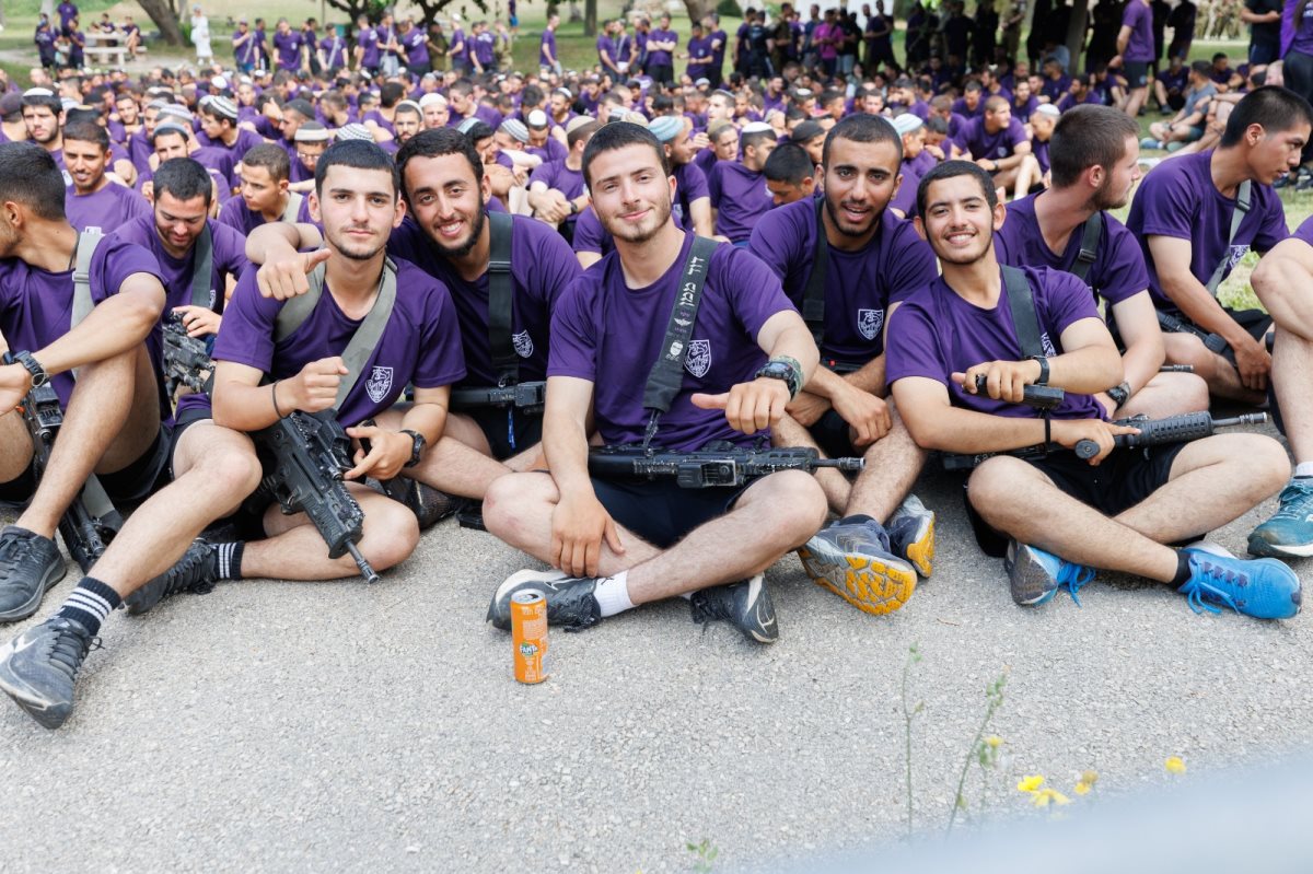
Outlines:
[{"label": "dark grey sneaker at far left below black sock with white stripes", "polygon": [[0,689],[46,728],[58,728],[74,709],[74,681],[92,648],[80,622],[51,617],[0,648]]}]

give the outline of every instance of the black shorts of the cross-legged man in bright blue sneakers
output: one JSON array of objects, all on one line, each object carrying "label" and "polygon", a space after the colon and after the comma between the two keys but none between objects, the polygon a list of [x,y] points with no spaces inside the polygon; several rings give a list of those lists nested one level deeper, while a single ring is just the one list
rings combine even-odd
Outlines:
[{"label": "black shorts of the cross-legged man in bright blue sneakers", "polygon": [[[1163,444],[1144,449],[1113,449],[1098,467],[1075,453],[1053,453],[1046,458],[1028,459],[1061,491],[1099,510],[1116,516],[1141,503],[1166,484],[1171,465],[1187,444]],[[990,528],[970,501],[966,486],[966,514],[976,541],[987,555],[1001,556],[1007,549],[1007,535]]]}]

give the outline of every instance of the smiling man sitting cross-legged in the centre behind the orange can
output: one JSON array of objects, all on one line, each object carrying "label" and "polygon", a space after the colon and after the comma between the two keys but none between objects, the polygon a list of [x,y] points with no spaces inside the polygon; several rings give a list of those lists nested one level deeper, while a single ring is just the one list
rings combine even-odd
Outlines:
[{"label": "smiling man sitting cross-legged in the centre behind the orange can", "polygon": [[[762,573],[825,520],[815,479],[785,470],[742,487],[684,489],[672,479],[590,476],[588,421],[611,445],[642,442],[650,421],[651,445],[678,451],[768,440],[767,428],[817,365],[815,344],[780,281],[751,253],[729,245],[705,261],[695,253],[695,236],[671,219],[675,178],[664,151],[645,127],[599,130],[583,172],[616,249],[553,314],[542,427],[551,472],[503,476],[483,505],[490,531],[559,571],[512,575],[488,619],[509,629],[511,597],[527,589],[546,596],[549,623],[569,629],[693,593],[696,619],[725,618],[769,643],[779,627]],[[696,301],[688,285],[699,276],[701,303],[688,304],[689,314],[680,291]],[[680,328],[684,340],[667,337]],[[664,392],[645,404],[642,386],[658,358],[671,362],[658,365],[670,379],[654,379]],[[668,412],[653,420],[658,394]]]}]

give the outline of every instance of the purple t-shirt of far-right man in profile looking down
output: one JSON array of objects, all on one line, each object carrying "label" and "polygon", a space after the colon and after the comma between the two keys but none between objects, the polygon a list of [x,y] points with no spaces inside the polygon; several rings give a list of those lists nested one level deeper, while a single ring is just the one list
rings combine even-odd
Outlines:
[{"label": "purple t-shirt of far-right man in profile looking down", "polygon": [[1250,248],[1266,252],[1287,236],[1285,210],[1271,185],[1251,184],[1250,209],[1241,222],[1228,251],[1232,213],[1236,199],[1222,197],[1213,185],[1209,165],[1213,150],[1184,155],[1163,161],[1140,182],[1136,199],[1130,203],[1127,228],[1140,240],[1140,248],[1149,266],[1149,289],[1154,304],[1167,312],[1176,311],[1158,281],[1158,270],[1149,252],[1150,236],[1174,236],[1190,240],[1190,272],[1200,283],[1207,283],[1213,270],[1226,256],[1222,280],[1234,269]]}]

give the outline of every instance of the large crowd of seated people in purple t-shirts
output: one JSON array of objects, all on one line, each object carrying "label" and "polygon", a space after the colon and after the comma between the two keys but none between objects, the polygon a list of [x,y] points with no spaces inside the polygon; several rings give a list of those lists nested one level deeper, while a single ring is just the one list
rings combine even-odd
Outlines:
[{"label": "large crowd of seated people in purple t-shirts", "polygon": [[[562,67],[554,17],[520,73],[483,47],[500,25],[456,22],[435,72],[407,39],[428,30],[383,14],[327,46],[278,21],[268,62],[243,20],[234,63],[204,72],[5,83],[0,499],[20,509],[0,621],[64,576],[56,529],[88,476],[133,512],[0,647],[0,689],[54,728],[116,608],[353,575],[260,489],[251,434],[297,411],[353,441],[374,568],[453,513],[550,566],[490,581],[499,629],[525,591],[570,630],[683,596],[769,643],[764,571],[793,550],[855,608],[899,609],[949,510],[913,493],[936,454],[969,459],[966,513],[1019,605],[1075,597],[1098,568],[1196,610],[1293,617],[1283,559],[1313,555],[1313,222],[1291,234],[1274,184],[1313,109],[1259,64],[1196,64],[1153,133],[1184,147],[1141,180],[1136,4],[1088,77],[1054,54],[1035,75],[1006,55],[945,72],[937,50],[902,68],[881,26],[867,73],[830,51],[836,12],[781,46],[747,10],[733,46],[714,14],[687,43],[668,17],[608,22],[590,71]],[[1004,29],[995,49],[1016,45]],[[1128,202],[1123,224],[1108,210]],[[1217,299],[1249,251],[1266,312]],[[207,391],[165,390],[171,319],[210,344]],[[34,470],[16,407],[47,382],[64,417]],[[1027,403],[1036,386],[1057,399]],[[1255,433],[1117,444],[1213,399],[1284,413],[1293,470]],[[596,472],[599,445],[863,467],[684,488]],[[1278,492],[1253,558],[1204,539]]]}]

